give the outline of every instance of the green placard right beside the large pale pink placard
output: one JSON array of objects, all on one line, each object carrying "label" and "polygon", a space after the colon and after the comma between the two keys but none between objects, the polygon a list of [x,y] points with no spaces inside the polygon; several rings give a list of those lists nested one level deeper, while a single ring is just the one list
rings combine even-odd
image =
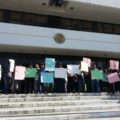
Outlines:
[{"label": "green placard right beside the large pale pink placard", "polygon": [[25,78],[35,78],[37,74],[36,68],[26,68]]}]

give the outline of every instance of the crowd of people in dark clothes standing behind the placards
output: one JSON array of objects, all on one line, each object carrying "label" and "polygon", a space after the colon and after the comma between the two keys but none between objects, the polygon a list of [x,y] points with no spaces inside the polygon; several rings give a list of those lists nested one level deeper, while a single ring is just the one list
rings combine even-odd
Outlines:
[{"label": "crowd of people in dark clothes standing behind the placards", "polygon": [[[35,78],[25,78],[24,80],[14,80],[14,72],[9,72],[7,64],[3,67],[2,77],[0,80],[1,93],[80,93],[80,92],[107,92],[114,94],[120,92],[120,82],[109,83],[107,75],[117,72],[117,70],[97,68],[95,64],[89,68],[89,72],[80,71],[79,74],[67,73],[66,79],[54,78],[53,83],[41,82],[40,74],[45,71],[45,64],[30,64],[28,68],[36,68],[37,73]],[[57,65],[57,68],[62,68],[62,63]],[[97,80],[91,77],[91,70],[99,69],[103,72],[104,80]]]}]

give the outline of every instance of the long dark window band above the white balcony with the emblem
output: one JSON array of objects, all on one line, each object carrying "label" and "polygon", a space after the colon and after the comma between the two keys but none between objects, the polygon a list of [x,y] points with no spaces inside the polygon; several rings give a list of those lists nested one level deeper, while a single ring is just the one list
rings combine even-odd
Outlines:
[{"label": "long dark window band above the white balcony with the emblem", "polygon": [[0,10],[0,21],[25,25],[63,28],[98,33],[120,34],[120,25],[86,21],[57,16],[39,15],[10,10]]}]

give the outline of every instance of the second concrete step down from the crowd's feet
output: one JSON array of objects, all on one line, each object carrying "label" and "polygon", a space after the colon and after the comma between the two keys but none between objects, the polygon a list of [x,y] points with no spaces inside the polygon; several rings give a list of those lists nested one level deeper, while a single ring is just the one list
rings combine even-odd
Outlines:
[{"label": "second concrete step down from the crowd's feet", "polygon": [[119,104],[119,100],[64,100],[64,101],[30,101],[30,102],[2,102],[0,108],[25,108],[42,106],[77,106],[77,105],[103,105]]}]

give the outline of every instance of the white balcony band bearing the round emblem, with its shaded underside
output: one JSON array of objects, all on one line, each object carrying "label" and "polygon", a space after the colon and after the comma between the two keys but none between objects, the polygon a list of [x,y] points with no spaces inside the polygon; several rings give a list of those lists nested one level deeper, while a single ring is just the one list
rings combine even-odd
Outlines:
[{"label": "white balcony band bearing the round emblem, with its shaded underside", "polygon": [[118,58],[120,35],[0,23],[0,51]]}]

